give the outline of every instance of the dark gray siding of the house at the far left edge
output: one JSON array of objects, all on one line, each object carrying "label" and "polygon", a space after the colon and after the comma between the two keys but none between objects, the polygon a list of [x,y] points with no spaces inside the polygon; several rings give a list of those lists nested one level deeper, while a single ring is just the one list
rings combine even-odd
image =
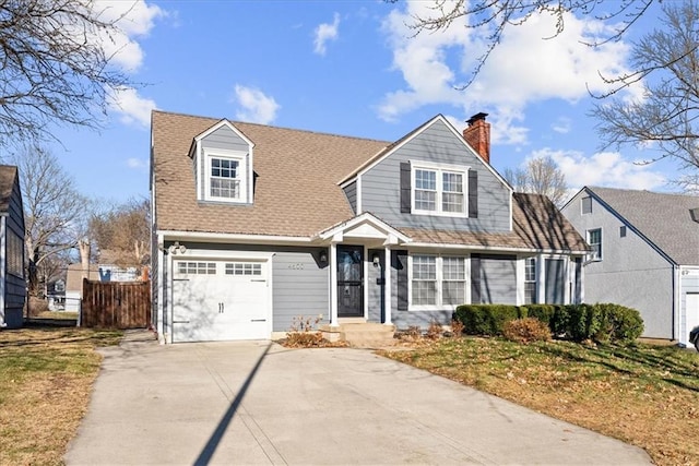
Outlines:
[{"label": "dark gray siding of the house at the far left edge", "polygon": [[[12,196],[10,198],[5,225],[8,230],[14,231],[14,234],[22,239],[22,243],[24,243],[22,193],[20,192],[20,186],[16,179],[12,187]],[[24,248],[22,248],[22,254],[24,254]],[[5,266],[4,320],[8,327],[16,328],[22,326],[23,323],[24,303],[26,300],[26,282],[24,277],[19,277],[8,273],[7,260],[3,265]]]}]

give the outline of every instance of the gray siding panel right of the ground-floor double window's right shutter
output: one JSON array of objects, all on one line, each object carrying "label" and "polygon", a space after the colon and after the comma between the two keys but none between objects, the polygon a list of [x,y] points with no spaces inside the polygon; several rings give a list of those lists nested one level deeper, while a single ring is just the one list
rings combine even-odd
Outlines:
[{"label": "gray siding panel right of the ground-floor double window's right shutter", "polygon": [[481,302],[517,304],[517,259],[481,258]]}]

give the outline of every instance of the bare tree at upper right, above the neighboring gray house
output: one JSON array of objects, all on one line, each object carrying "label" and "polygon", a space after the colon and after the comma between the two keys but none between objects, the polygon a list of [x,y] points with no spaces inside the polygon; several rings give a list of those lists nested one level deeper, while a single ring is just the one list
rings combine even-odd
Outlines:
[{"label": "bare tree at upper right, above the neighboring gray house", "polygon": [[[602,95],[594,107],[605,146],[639,145],[659,151],[690,171],[699,169],[699,4],[694,0],[663,4],[660,26],[635,43],[631,64],[637,72],[608,79],[615,92],[642,86],[637,99]],[[611,97],[611,98],[609,98]],[[652,143],[652,144],[651,144]],[[678,182],[691,188],[696,176]],[[695,187],[696,189],[696,187]]]}]

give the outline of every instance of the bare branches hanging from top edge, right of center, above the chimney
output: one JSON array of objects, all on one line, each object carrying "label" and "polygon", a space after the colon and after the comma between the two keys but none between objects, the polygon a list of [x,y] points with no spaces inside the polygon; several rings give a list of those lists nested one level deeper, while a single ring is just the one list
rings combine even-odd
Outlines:
[{"label": "bare branches hanging from top edge, right of center, above the chimney", "polygon": [[[399,0],[387,0],[395,3]],[[500,44],[508,27],[519,26],[532,16],[549,13],[556,19],[553,31],[544,32],[543,38],[552,38],[564,32],[566,14],[577,13],[603,21],[611,26],[606,35],[599,37],[601,44],[620,39],[653,3],[653,0],[431,0],[430,13],[414,15],[408,24],[415,35],[423,32],[442,31],[461,17],[467,19],[465,27],[486,31],[485,52],[478,58],[470,79],[463,86],[473,83],[493,50]],[[604,31],[600,31],[604,34]]]}]

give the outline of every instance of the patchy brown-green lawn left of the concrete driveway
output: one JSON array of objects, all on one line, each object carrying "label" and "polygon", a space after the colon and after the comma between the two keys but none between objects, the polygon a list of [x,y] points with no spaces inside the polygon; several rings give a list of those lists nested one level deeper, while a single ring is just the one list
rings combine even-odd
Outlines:
[{"label": "patchy brown-green lawn left of the concrete driveway", "polygon": [[0,464],[62,464],[99,371],[99,346],[118,331],[0,332]]}]

